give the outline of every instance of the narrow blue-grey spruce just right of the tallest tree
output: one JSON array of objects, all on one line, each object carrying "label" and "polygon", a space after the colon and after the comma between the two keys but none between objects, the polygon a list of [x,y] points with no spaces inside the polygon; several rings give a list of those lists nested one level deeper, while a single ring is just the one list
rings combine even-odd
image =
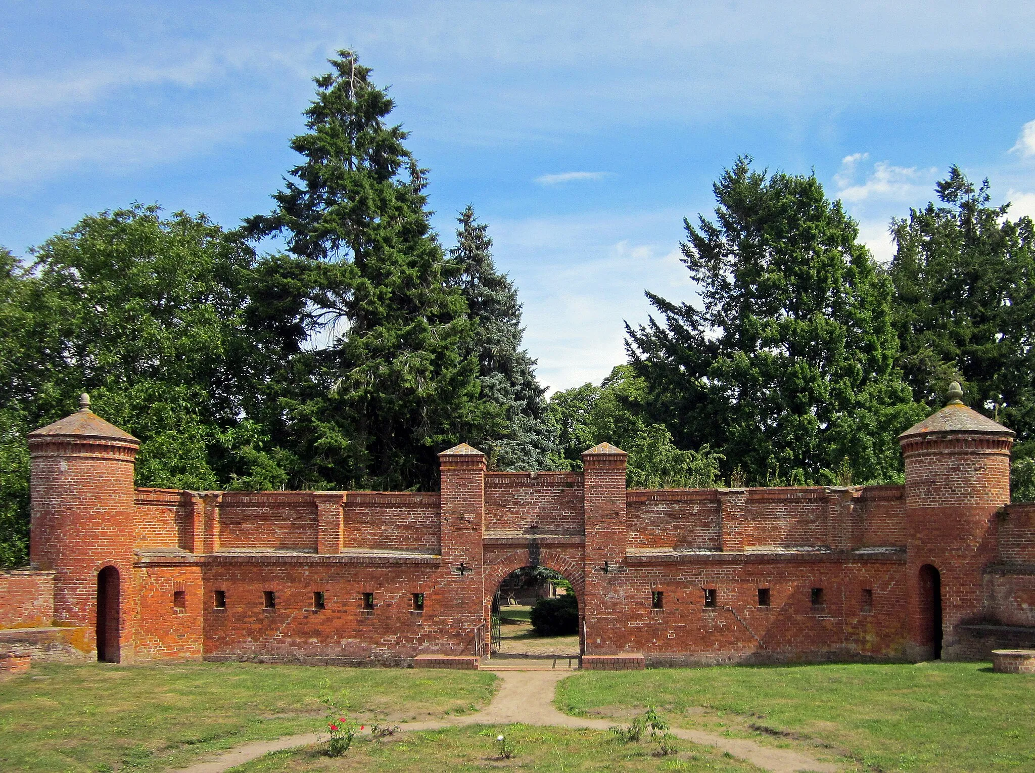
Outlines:
[{"label": "narrow blue-grey spruce just right of the tallest tree", "polygon": [[478,361],[485,403],[477,445],[496,469],[545,469],[556,433],[545,420],[545,389],[535,378],[535,360],[522,348],[518,290],[496,270],[489,227],[478,222],[474,208],[468,205],[456,219],[449,284],[460,289],[474,324],[464,354]]}]

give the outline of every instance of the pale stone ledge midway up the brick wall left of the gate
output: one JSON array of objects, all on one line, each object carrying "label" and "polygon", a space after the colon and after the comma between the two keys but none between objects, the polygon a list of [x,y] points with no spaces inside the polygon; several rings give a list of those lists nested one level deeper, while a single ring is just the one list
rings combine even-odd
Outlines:
[{"label": "pale stone ledge midway up the brick wall left of the gate", "polygon": [[302,551],[220,551],[198,555],[178,548],[136,551],[137,564],[157,566],[164,564],[366,564],[394,565],[421,564],[439,566],[442,557],[417,551],[377,551],[346,548],[335,554],[317,554]]}]

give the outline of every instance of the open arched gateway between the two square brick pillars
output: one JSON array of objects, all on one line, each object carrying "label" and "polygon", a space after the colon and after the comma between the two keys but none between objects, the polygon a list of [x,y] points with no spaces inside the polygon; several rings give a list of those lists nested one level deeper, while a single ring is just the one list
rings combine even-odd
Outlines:
[{"label": "open arched gateway between the two square brick pillars", "polygon": [[491,657],[576,659],[579,606],[574,588],[561,573],[544,566],[510,572],[493,595]]}]

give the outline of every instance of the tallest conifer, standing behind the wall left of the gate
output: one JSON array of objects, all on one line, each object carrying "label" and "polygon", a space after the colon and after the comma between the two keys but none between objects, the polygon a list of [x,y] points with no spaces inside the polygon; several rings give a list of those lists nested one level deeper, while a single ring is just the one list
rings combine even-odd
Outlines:
[{"label": "tallest conifer, standing behind the wall left of the gate", "polygon": [[303,160],[256,237],[284,234],[312,268],[315,315],[331,336],[279,400],[310,485],[437,481],[436,452],[481,421],[470,322],[432,231],[425,173],[386,119],[392,100],[351,51],[315,80]]}]

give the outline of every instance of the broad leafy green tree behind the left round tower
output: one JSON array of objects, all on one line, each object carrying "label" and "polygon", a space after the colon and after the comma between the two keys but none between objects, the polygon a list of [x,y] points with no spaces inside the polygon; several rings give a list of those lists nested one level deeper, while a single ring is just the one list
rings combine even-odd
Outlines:
[{"label": "broad leafy green tree behind the left round tower", "polygon": [[239,235],[136,205],[84,217],[32,258],[0,254],[5,563],[25,558],[25,435],[70,413],[80,392],[142,441],[139,485],[254,477],[265,436],[247,395],[270,357],[248,324],[256,256]]}]

